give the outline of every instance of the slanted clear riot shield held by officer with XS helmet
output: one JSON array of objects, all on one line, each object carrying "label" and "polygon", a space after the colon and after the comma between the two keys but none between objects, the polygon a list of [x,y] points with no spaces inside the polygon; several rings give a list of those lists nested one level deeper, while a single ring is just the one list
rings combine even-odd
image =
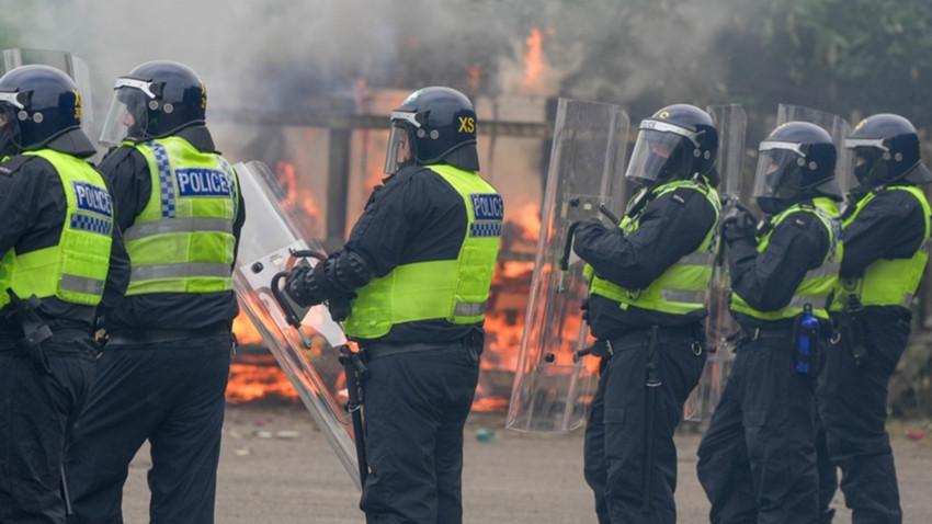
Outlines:
[{"label": "slanted clear riot shield held by officer with XS helmet", "polygon": [[339,350],[346,343],[343,330],[322,305],[311,308],[294,306],[300,323],[300,329],[297,329],[288,322],[291,311],[281,307],[272,288],[272,282],[280,272],[292,269],[296,263],[307,263],[305,261],[311,265],[317,263],[311,259],[295,259],[293,251],[323,253],[323,249],[283,208],[285,195],[264,163],[237,163],[234,168],[239,175],[247,207],[234,272],[234,287],[240,306],[262,333],[262,339],[310,411],[317,428],[360,487],[352,421],[341,403],[349,395]]}]

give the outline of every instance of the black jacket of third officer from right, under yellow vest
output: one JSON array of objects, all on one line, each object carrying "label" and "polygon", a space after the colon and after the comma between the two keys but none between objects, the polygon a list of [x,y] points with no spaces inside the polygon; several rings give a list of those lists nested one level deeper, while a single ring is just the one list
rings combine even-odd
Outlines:
[{"label": "black jacket of third officer from right, under yellow vest", "polygon": [[[683,255],[702,244],[715,223],[716,212],[698,191],[680,187],[648,202],[640,226],[624,236],[617,227],[595,221],[576,230],[573,251],[603,280],[626,289],[644,289]],[[683,326],[701,317],[672,315],[628,307],[598,295],[589,297],[588,319],[592,334],[614,339],[651,326]],[[704,316],[704,315],[703,315]]]}]

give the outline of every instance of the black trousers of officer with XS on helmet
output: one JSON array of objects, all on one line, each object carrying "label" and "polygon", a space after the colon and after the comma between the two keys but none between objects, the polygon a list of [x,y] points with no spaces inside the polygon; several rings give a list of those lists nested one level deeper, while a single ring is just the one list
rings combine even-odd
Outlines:
[{"label": "black trousers of officer with XS on helmet", "polygon": [[370,475],[360,501],[368,524],[463,522],[463,429],[480,352],[446,345],[368,362],[363,409]]}]

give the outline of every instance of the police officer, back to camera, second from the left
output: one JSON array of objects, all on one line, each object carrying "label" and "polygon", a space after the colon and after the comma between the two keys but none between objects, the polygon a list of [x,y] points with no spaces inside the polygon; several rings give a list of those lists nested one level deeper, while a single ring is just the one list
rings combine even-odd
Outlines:
[{"label": "police officer, back to camera, second from the left", "polygon": [[236,173],[204,121],[191,68],[143,64],[116,80],[100,169],[132,263],[126,296],[69,452],[75,517],[122,522],[129,462],[148,440],[152,522],[214,522],[224,391],[245,219]]}]

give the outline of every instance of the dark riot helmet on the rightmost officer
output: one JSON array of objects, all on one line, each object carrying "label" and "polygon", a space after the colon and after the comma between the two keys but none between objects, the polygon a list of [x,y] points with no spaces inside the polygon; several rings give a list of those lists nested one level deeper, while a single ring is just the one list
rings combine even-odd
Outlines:
[{"label": "dark riot helmet on the rightmost officer", "polygon": [[916,127],[895,114],[877,114],[861,121],[844,140],[854,150],[854,175],[860,186],[925,184],[932,172],[921,163]]}]

